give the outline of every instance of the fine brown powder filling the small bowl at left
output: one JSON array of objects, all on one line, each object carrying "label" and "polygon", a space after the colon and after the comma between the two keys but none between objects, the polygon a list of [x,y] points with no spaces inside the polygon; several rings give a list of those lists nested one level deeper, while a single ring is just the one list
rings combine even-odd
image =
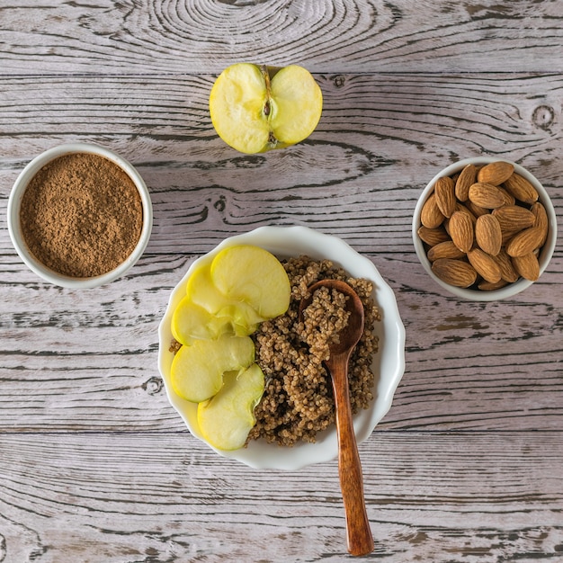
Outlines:
[{"label": "fine brown powder filling the small bowl at left", "polygon": [[22,196],[22,236],[57,273],[87,278],[119,266],[139,242],[135,183],[111,160],[76,153],[43,166]]}]

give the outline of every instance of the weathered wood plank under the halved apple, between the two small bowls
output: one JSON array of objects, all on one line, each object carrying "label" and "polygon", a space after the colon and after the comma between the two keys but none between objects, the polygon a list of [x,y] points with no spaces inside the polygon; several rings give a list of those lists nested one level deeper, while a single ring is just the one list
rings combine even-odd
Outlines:
[{"label": "weathered wood plank under the halved apple, between the two small bowls", "polygon": [[[304,224],[364,252],[407,253],[425,183],[442,166],[480,154],[529,167],[563,209],[563,83],[555,76],[352,75],[341,87],[321,77],[326,111],[318,130],[296,147],[257,156],[236,153],[212,130],[210,77],[197,84],[167,78],[176,94],[165,102],[161,81],[147,79],[137,92],[136,80],[30,79],[33,99],[43,102],[33,106],[22,80],[8,80],[0,94],[7,108],[0,114],[0,205],[33,156],[89,140],[129,157],[145,177],[155,206],[149,253],[206,252],[264,224]],[[197,103],[187,107],[183,89]],[[552,112],[553,121],[539,121],[541,112]],[[4,221],[2,213],[0,227]],[[0,252],[11,252],[7,237]]]}]

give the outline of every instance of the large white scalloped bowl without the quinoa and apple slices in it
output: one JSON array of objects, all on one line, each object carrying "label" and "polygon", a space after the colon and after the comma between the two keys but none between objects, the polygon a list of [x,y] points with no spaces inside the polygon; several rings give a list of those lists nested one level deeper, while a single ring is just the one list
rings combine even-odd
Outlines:
[{"label": "large white scalloped bowl without the quinoa and apple slices in it", "polygon": [[[374,282],[374,298],[380,308],[381,321],[376,323],[380,337],[380,350],[374,356],[374,400],[371,407],[354,416],[357,442],[366,440],[376,424],[389,411],[398,383],[405,370],[405,328],[398,313],[397,301],[389,285],[381,278],[371,261],[359,255],[339,238],[323,235],[303,227],[262,227],[244,235],[224,240],[208,255],[192,263],[188,272],[172,291],[165,316],[159,329],[158,367],[165,382],[165,389],[172,406],[182,416],[190,432],[201,441],[205,440],[197,422],[195,403],[180,398],[170,383],[170,366],[174,353],[169,351],[173,340],[170,323],[174,308],[185,294],[185,284],[201,260],[216,255],[226,246],[238,244],[261,246],[280,258],[308,255],[314,259],[327,258],[342,266],[353,277],[367,278]],[[207,442],[206,442],[207,443]],[[210,445],[208,443],[208,445]],[[211,447],[211,446],[210,446]],[[299,443],[289,448],[264,440],[251,441],[247,448],[236,451],[220,451],[220,455],[239,460],[255,469],[300,469],[312,463],[333,460],[338,453],[335,427],[317,434],[315,443]]]}]

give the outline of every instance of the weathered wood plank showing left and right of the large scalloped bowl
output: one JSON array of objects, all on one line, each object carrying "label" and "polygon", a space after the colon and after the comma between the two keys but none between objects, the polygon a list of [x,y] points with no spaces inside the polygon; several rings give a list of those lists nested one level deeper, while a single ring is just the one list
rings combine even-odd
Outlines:
[{"label": "weathered wood plank showing left and right of the large scalloped bowl", "polygon": [[[0,428],[182,428],[157,372],[156,330],[192,256],[146,255],[87,303],[14,264],[2,290]],[[560,259],[523,294],[483,304],[448,297],[413,255],[370,257],[407,327],[407,369],[383,427],[561,427]]]}]

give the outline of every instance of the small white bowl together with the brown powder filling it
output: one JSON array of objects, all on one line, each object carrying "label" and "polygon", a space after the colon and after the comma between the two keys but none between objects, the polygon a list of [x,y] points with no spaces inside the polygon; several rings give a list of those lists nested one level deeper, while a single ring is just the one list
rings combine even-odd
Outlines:
[{"label": "small white bowl together with the brown powder filling it", "polygon": [[8,201],[8,229],[22,261],[60,287],[104,285],[145,251],[152,204],[139,172],[91,143],[50,148],[24,167]]}]

